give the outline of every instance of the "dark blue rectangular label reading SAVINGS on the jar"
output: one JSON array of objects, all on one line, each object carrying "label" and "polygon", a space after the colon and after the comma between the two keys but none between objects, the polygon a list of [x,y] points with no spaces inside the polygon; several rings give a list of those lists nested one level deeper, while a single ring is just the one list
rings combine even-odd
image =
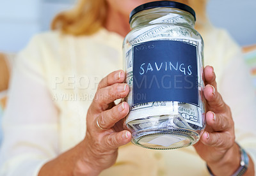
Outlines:
[{"label": "dark blue rectangular label reading SAVINGS on the jar", "polygon": [[179,101],[198,106],[197,47],[171,40],[132,46],[132,105]]}]

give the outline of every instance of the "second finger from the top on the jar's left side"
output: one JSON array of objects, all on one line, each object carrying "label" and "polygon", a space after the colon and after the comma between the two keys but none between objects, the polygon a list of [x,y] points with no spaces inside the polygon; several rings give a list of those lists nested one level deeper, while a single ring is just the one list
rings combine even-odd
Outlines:
[{"label": "second finger from the top on the jar's left side", "polygon": [[129,86],[127,84],[113,84],[108,87],[99,89],[93,98],[92,108],[98,112],[102,112],[109,107],[116,99],[125,98],[129,93]]}]

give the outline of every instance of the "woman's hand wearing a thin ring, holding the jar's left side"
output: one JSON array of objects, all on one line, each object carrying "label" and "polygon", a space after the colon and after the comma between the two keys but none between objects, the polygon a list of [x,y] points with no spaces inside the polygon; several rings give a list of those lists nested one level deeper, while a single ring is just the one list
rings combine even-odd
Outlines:
[{"label": "woman's hand wearing a thin ring, holding the jar's left side", "polygon": [[76,175],[98,175],[115,163],[118,147],[131,141],[131,133],[124,130],[122,122],[129,113],[129,105],[123,102],[115,106],[113,103],[129,93],[124,80],[124,71],[118,70],[100,81],[88,109],[84,152],[76,163]]}]

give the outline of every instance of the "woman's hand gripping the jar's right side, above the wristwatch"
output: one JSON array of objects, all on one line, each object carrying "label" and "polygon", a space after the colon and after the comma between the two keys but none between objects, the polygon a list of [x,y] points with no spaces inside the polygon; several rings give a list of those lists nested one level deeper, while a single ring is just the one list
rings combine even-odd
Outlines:
[{"label": "woman's hand gripping the jar's right side, above the wristwatch", "polygon": [[234,122],[230,108],[217,91],[216,76],[211,66],[205,67],[204,77],[207,125],[194,147],[214,175],[231,175],[239,168],[240,162],[239,147],[235,143]]}]

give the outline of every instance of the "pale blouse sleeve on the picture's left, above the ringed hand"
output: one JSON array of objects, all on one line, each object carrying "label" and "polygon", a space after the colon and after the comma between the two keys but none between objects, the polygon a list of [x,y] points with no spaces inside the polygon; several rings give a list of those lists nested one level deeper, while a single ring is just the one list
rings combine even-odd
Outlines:
[{"label": "pale blouse sleeve on the picture's left, above the ringed hand", "polygon": [[0,175],[38,175],[58,155],[58,110],[34,38],[16,58],[3,118]]}]

